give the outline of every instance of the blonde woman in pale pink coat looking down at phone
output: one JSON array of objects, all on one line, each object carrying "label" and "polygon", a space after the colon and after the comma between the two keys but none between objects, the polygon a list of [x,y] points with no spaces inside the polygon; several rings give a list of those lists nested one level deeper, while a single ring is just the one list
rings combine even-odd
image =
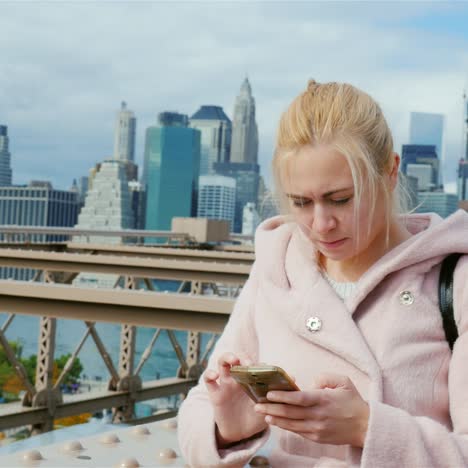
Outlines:
[{"label": "blonde woman in pale pink coat looking down at phone", "polygon": [[[468,215],[401,216],[400,158],[378,104],[311,81],[281,118],[273,170],[289,216],[265,221],[256,261],[179,413],[194,466],[468,465],[468,256],[455,272],[453,354],[440,263],[468,253]],[[301,389],[255,405],[232,365],[265,362]],[[272,434],[273,433],[273,434]]]}]

